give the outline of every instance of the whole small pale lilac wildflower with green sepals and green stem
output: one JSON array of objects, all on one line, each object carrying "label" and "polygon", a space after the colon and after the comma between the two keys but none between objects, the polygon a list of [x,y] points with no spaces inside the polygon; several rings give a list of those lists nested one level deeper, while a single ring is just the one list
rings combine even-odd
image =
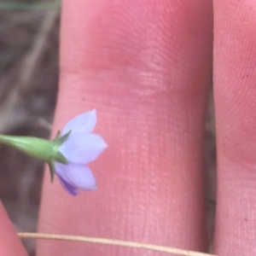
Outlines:
[{"label": "whole small pale lilac wildflower with green sepals and green stem", "polygon": [[79,189],[96,189],[96,180],[86,166],[108,147],[101,136],[92,133],[96,126],[96,110],[85,112],[70,120],[53,141],[38,137],[0,135],[0,143],[17,148],[49,164],[51,180],[54,175],[71,195]]}]

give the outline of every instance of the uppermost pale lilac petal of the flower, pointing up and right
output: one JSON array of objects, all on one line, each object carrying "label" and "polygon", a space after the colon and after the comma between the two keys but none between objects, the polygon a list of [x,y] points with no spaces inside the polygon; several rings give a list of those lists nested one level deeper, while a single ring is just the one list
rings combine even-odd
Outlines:
[{"label": "uppermost pale lilac petal of the flower, pointing up and right", "polygon": [[96,117],[96,109],[91,111],[87,111],[85,113],[80,114],[79,116],[71,119],[67,125],[65,125],[61,135],[65,135],[68,131],[83,131],[83,132],[91,132],[96,126],[97,117]]}]

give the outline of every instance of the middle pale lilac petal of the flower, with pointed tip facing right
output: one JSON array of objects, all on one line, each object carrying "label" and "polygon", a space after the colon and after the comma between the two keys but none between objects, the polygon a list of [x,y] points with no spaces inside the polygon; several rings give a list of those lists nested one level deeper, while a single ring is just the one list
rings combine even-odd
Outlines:
[{"label": "middle pale lilac petal of the flower, with pointed tip facing right", "polygon": [[92,160],[96,160],[107,147],[108,145],[102,137],[97,134],[72,131],[59,150],[69,162],[87,164]]}]

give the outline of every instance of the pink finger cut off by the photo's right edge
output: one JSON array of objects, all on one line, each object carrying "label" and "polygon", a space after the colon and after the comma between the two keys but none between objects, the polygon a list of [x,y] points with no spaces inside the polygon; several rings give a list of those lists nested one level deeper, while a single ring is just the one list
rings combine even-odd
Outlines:
[{"label": "pink finger cut off by the photo's right edge", "polygon": [[256,3],[214,1],[218,143],[215,252],[256,253]]}]

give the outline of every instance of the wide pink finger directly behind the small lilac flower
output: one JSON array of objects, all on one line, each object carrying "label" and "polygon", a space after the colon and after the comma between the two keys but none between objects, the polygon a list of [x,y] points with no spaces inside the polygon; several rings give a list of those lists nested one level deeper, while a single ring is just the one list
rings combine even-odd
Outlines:
[{"label": "wide pink finger directly behind the small lilac flower", "polygon": [[[96,108],[108,149],[77,197],[44,181],[39,231],[206,250],[204,122],[210,1],[64,1],[54,131]],[[40,241],[39,255],[136,250]]]}]

